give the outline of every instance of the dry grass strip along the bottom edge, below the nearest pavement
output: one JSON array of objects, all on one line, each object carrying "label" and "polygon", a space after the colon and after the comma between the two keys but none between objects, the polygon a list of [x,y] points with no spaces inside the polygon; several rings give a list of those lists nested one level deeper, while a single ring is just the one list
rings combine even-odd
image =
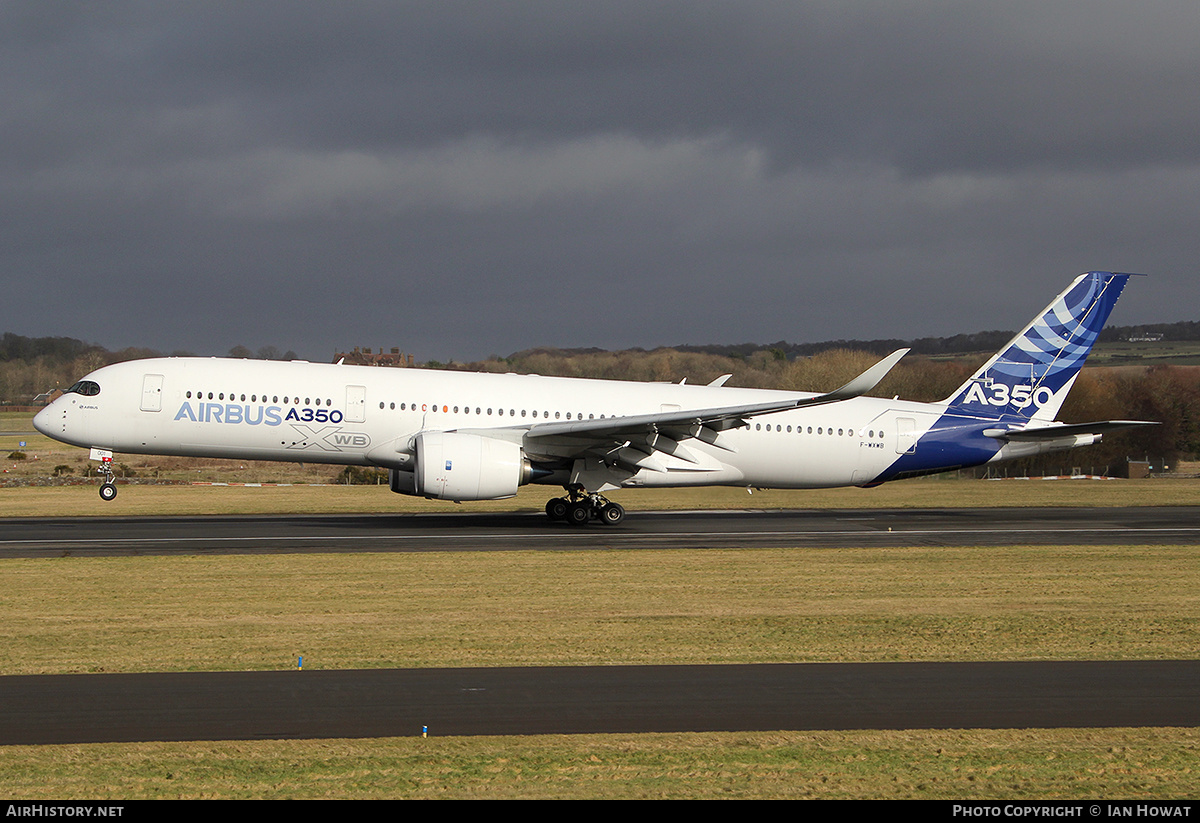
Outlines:
[{"label": "dry grass strip along the bottom edge, below the nearest pavement", "polygon": [[763,732],[0,749],[0,794],[1145,801],[1200,794],[1196,729]]}]

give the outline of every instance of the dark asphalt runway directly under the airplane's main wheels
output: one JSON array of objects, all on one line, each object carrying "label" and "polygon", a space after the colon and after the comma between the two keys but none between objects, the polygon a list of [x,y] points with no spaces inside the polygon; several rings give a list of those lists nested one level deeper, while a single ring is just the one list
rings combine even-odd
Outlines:
[{"label": "dark asphalt runway directly under the airplane's main wheels", "polygon": [[1200,506],[631,512],[578,528],[544,513],[11,518],[0,558],[998,545],[1189,545]]}]

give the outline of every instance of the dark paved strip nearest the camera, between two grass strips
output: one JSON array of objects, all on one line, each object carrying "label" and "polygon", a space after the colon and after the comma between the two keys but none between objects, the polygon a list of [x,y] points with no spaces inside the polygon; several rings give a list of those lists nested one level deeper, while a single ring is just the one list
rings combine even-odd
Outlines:
[{"label": "dark paved strip nearest the camera, between two grass strips", "polygon": [[1200,726],[1200,661],[0,678],[0,744]]}]

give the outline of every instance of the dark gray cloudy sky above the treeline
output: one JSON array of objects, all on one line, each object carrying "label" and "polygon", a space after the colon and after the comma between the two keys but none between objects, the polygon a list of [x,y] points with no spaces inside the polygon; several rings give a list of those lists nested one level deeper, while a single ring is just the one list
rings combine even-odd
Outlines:
[{"label": "dark gray cloudy sky above the treeline", "polygon": [[1198,319],[1200,4],[0,5],[0,331],[397,346]]}]

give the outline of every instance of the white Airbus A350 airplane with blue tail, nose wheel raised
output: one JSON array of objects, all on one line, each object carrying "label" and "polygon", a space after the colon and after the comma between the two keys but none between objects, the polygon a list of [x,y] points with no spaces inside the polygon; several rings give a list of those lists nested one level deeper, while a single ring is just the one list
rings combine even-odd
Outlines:
[{"label": "white Airbus A350 airplane with blue tail, nose wheel raised", "polygon": [[1136,420],[1055,420],[1132,275],[1091,271],[940,403],[866,397],[899,349],[826,394],[160,358],[98,368],[37,413],[38,432],[113,452],[367,465],[391,491],[440,500],[562,486],[546,513],[625,517],[630,487],[872,487],[1090,445]]}]

